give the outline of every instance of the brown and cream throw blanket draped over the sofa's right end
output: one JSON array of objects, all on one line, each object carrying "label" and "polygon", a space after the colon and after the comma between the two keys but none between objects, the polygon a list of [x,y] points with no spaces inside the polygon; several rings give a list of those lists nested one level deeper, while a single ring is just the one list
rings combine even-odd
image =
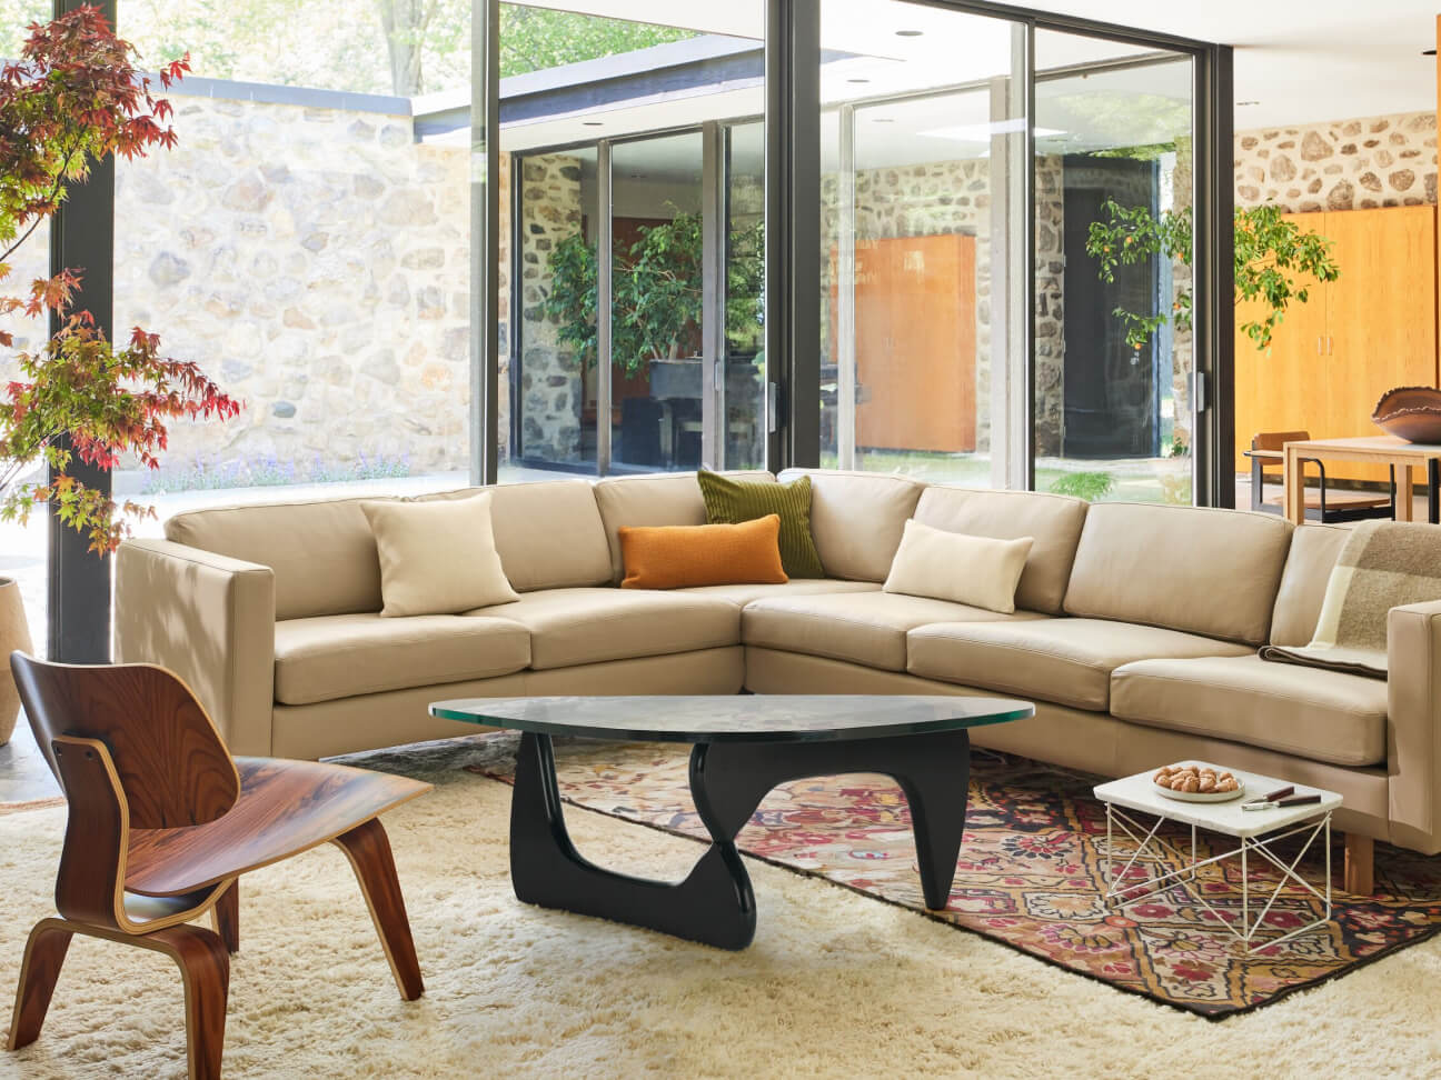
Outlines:
[{"label": "brown and cream throw blanket draped over the sofa's right end", "polygon": [[1441,600],[1441,528],[1365,521],[1346,540],[1326,583],[1311,644],[1265,645],[1261,657],[1385,678],[1388,612],[1425,600]]}]

